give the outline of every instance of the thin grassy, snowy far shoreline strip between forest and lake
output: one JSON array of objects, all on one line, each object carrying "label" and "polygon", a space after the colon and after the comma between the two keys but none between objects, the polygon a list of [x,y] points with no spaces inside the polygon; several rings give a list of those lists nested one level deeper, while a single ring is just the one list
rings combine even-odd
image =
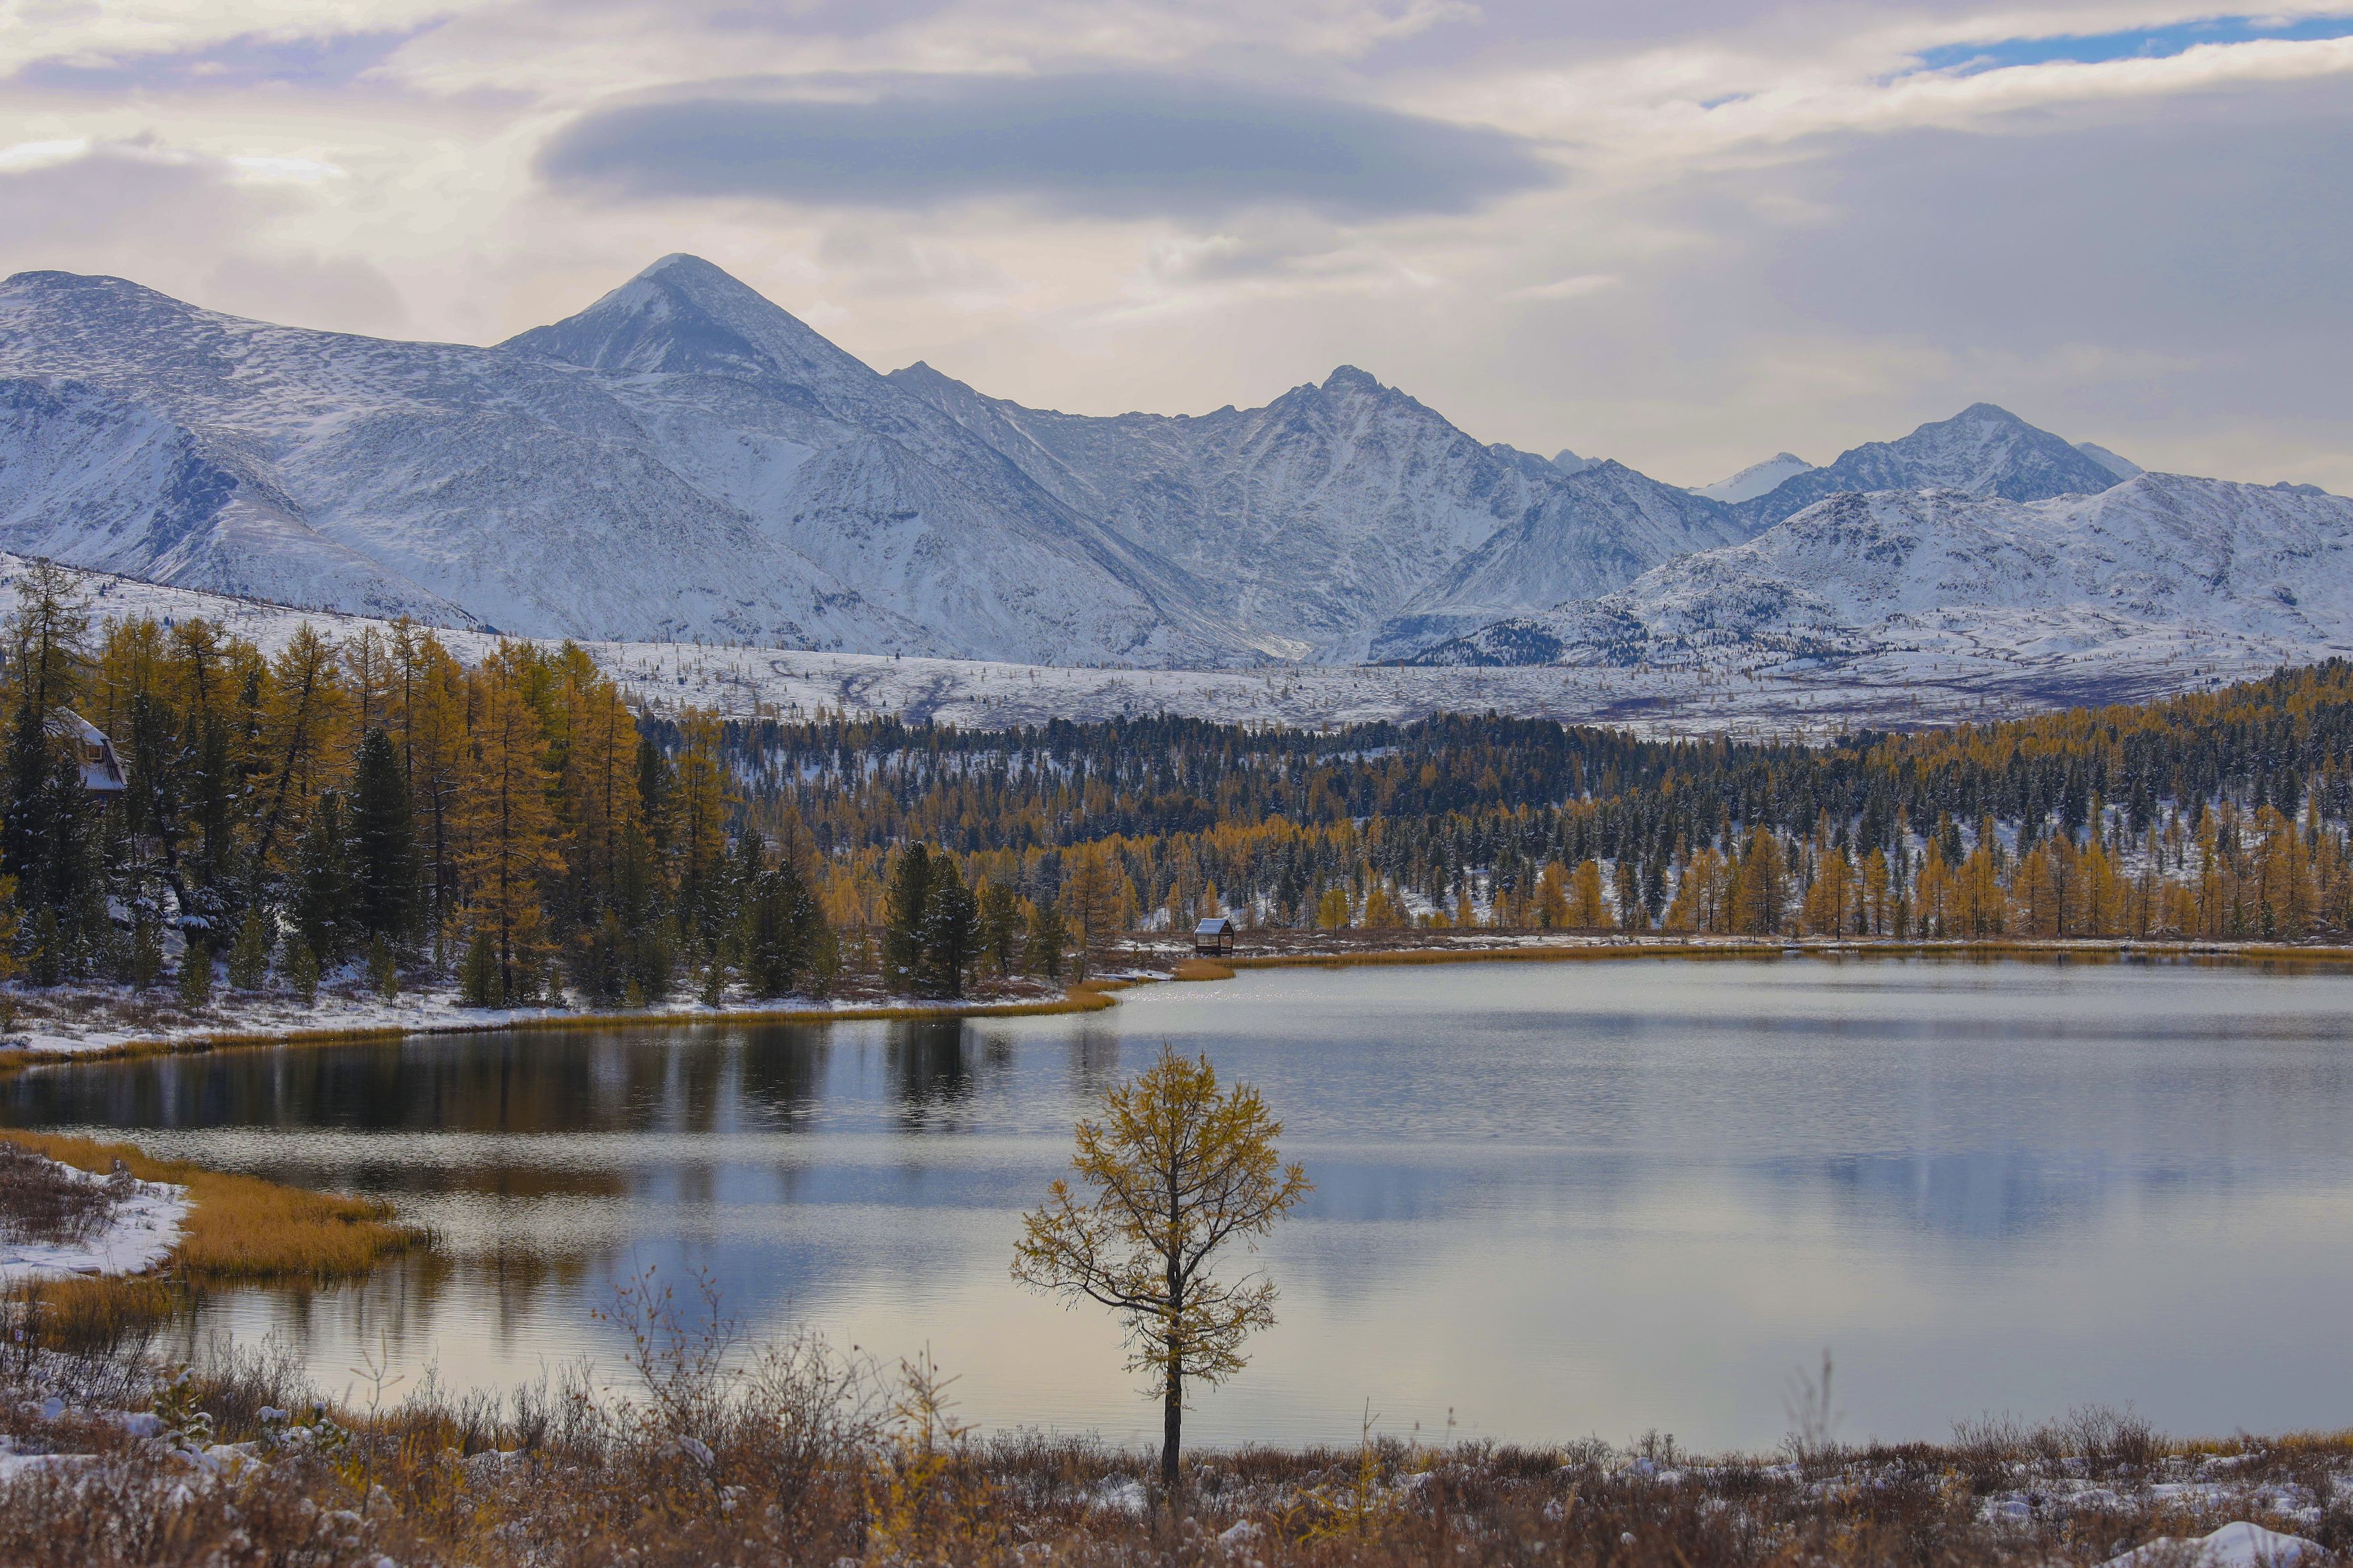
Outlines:
[{"label": "thin grassy, snowy far shoreline strip between forest and lake", "polygon": [[[299,1025],[287,1030],[200,1030],[125,1039],[87,1048],[0,1048],[0,1079],[26,1067],[118,1063],[151,1056],[205,1056],[273,1046],[336,1046],[414,1034],[504,1034],[546,1030],[668,1027],[689,1030],[734,1023],[920,1023],[946,1018],[1047,1018],[1096,1013],[1118,1006],[1115,992],[1155,983],[1226,980],[1264,969],[1409,969],[1435,964],[1595,964],[1626,959],[2017,959],[2017,961],[2202,961],[2214,966],[2308,964],[2353,966],[2353,945],[2141,940],[2141,938],[1965,938],[1965,940],[1857,940],[1857,938],[1602,938],[1489,940],[1464,945],[1353,947],[1313,945],[1294,952],[1228,952],[1193,957],[1186,943],[1165,950],[1115,954],[1146,966],[1115,969],[1078,980],[1059,997],[1012,1001],[875,1001],[852,1006],[722,1006],[678,1011],[501,1013],[496,1018],[426,1018],[409,1023]],[[1224,971],[1224,973],[1212,973]]]}]

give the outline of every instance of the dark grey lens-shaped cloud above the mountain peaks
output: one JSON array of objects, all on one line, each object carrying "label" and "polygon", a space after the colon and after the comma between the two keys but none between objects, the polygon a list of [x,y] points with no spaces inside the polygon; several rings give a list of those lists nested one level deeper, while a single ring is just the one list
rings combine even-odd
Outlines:
[{"label": "dark grey lens-shaped cloud above the mountain peaks", "polygon": [[541,176],[621,200],[812,207],[1035,202],[1087,216],[1294,207],[1459,214],[1555,181],[1504,132],[1365,103],[1155,75],[885,78],[856,96],[736,89],[591,110]]}]

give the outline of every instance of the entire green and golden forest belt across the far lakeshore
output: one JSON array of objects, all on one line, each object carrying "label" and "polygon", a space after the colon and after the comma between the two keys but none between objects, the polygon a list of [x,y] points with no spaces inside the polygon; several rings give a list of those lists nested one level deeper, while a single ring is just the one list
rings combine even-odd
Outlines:
[{"label": "entire green and golden forest belt across the far lakeshore", "polygon": [[[2353,665],[1828,745],[1537,719],[958,731],[649,719],[574,646],[278,654],[7,618],[0,964],[209,994],[431,971],[482,1006],[1064,978],[1113,936],[1537,926],[1889,938],[2353,929]],[[82,731],[75,717],[94,731]],[[92,736],[120,757],[94,780]],[[115,788],[120,785],[120,788]]]}]

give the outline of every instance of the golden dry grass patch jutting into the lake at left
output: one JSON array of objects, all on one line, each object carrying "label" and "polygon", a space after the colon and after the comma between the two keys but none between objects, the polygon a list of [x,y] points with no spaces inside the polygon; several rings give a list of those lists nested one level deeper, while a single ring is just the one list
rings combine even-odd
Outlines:
[{"label": "golden dry grass patch jutting into the lake at left", "polygon": [[120,1161],[144,1182],[186,1187],[188,1220],[181,1225],[169,1267],[191,1284],[353,1279],[384,1258],[426,1241],[424,1232],[395,1225],[384,1204],[153,1159],[127,1143],[21,1131],[0,1133],[0,1143],[80,1171],[108,1173]]}]

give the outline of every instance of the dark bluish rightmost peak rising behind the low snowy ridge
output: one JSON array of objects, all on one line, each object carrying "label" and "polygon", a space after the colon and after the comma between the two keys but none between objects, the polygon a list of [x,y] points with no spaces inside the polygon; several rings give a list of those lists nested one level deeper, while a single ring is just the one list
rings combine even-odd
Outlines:
[{"label": "dark bluish rightmost peak rising behind the low snowy ridge", "polygon": [[1751,529],[1795,517],[1826,496],[1880,489],[1958,489],[2005,501],[2092,496],[2115,484],[2106,465],[2009,409],[1969,404],[1894,442],[1866,442],[1739,503]]}]

